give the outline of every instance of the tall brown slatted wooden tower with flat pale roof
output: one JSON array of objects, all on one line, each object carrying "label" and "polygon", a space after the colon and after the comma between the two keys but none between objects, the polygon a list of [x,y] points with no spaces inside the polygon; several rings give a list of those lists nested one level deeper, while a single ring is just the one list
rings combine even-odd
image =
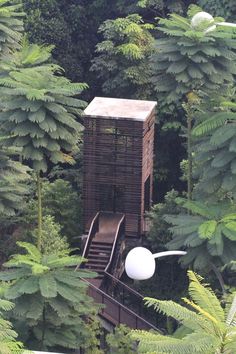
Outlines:
[{"label": "tall brown slatted wooden tower with flat pale roof", "polygon": [[152,200],[156,102],[96,97],[84,112],[84,225],[124,213],[126,237],[145,231]]}]

